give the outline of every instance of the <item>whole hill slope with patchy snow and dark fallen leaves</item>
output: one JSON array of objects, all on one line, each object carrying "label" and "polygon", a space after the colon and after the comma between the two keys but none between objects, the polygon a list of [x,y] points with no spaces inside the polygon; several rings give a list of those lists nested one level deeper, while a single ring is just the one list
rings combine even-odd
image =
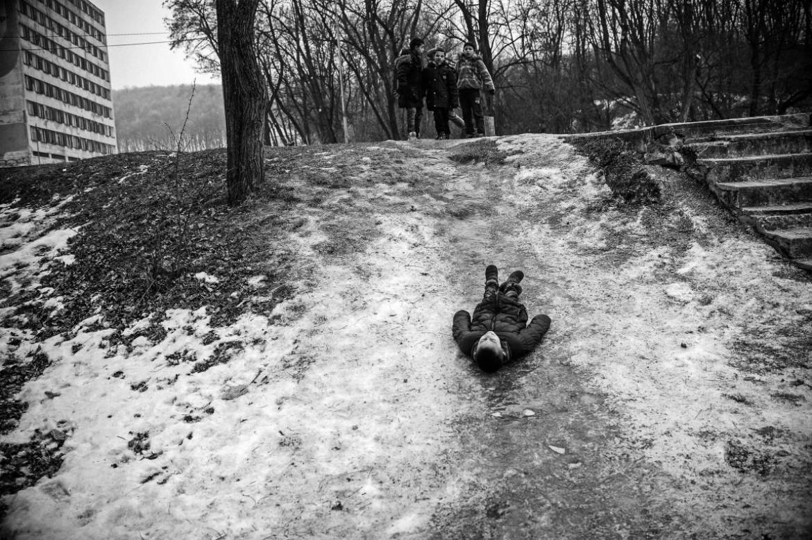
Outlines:
[{"label": "whole hill slope with patchy snow and dark fallen leaves", "polygon": [[[812,283],[689,180],[623,205],[540,135],[266,158],[239,210],[218,153],[9,176],[4,538],[810,531]],[[451,339],[489,263],[553,321],[493,375]]]}]

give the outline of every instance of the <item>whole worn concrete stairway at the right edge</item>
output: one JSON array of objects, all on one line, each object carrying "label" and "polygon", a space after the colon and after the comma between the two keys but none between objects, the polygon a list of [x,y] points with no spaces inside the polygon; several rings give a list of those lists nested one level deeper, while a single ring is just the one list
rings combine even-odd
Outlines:
[{"label": "whole worn concrete stairway at the right edge", "polygon": [[665,124],[696,153],[708,186],[742,222],[797,266],[812,270],[810,114]]}]

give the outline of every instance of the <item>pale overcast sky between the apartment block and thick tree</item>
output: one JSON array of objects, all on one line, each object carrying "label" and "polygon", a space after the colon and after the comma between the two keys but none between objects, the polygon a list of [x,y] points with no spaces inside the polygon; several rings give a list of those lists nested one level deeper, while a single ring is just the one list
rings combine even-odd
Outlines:
[{"label": "pale overcast sky between the apartment block and thick tree", "polygon": [[[179,50],[169,50],[168,43],[123,45],[147,41],[167,41],[169,34],[163,18],[169,11],[161,0],[91,0],[104,11],[107,23],[107,45],[110,52],[110,82],[113,89],[164,84],[197,84],[220,82],[211,76],[195,73],[191,60]],[[160,33],[152,33],[160,32]],[[114,34],[143,34],[117,36]]]}]

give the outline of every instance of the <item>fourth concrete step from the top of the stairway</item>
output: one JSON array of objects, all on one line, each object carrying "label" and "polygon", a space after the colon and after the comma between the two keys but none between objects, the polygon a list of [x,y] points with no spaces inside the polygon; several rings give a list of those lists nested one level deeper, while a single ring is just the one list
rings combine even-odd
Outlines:
[{"label": "fourth concrete step from the top of the stairway", "polygon": [[750,182],[711,184],[719,200],[729,208],[791,205],[812,201],[812,177],[777,178]]}]

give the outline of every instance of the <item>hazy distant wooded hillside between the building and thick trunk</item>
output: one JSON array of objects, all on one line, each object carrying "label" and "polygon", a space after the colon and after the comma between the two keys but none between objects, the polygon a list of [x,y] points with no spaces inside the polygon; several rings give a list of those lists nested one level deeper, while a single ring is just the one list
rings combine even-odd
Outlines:
[{"label": "hazy distant wooded hillside between the building and thick trunk", "polygon": [[[174,148],[184,126],[192,86],[146,86],[113,91],[119,152]],[[184,140],[188,150],[226,145],[222,86],[197,86]],[[168,127],[167,127],[168,126]],[[171,135],[171,131],[175,136]]]}]

